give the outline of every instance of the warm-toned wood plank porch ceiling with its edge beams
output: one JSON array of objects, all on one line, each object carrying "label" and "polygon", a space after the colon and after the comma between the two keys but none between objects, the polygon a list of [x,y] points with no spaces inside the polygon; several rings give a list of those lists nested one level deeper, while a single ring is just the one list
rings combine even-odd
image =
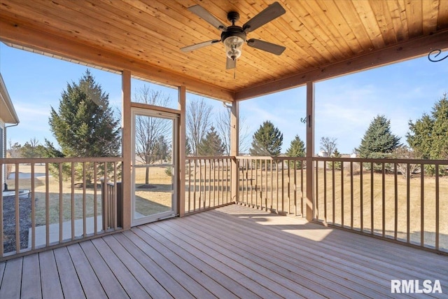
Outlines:
[{"label": "warm-toned wood plank porch ceiling with its edge beams", "polygon": [[234,70],[223,43],[188,7],[243,25],[272,0],[0,0],[6,43],[234,101],[448,48],[447,0],[278,0],[286,13],[248,34],[286,46],[272,55],[247,45]]}]

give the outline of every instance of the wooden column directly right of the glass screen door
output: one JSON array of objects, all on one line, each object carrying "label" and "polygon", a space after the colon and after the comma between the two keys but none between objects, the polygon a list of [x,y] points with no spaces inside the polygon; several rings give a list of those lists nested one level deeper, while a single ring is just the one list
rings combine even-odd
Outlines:
[{"label": "wooden column directly right of the glass screen door", "polygon": [[179,161],[177,168],[178,175],[178,202],[179,216],[185,215],[185,177],[186,177],[186,87],[179,87],[179,110],[181,117],[179,118]]}]

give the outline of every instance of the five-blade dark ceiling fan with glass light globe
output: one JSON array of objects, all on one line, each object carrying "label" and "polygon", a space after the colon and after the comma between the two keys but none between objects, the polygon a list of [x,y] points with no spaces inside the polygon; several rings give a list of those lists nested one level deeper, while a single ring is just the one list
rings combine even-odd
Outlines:
[{"label": "five-blade dark ceiling fan with glass light globe", "polygon": [[280,15],[283,15],[283,13],[286,13],[285,9],[279,4],[279,2],[274,2],[273,4],[267,6],[267,8],[258,13],[258,15],[255,15],[255,17],[251,18],[251,20],[248,20],[248,22],[246,22],[246,24],[242,27],[235,25],[235,22],[239,20],[239,13],[235,11],[230,11],[227,15],[227,19],[232,22],[232,25],[229,27],[226,27],[220,20],[200,5],[191,6],[188,8],[188,11],[195,13],[200,18],[216,27],[216,29],[221,30],[221,39],[213,39],[211,41],[195,43],[194,45],[181,48],[181,51],[190,52],[222,41],[224,43],[225,53],[227,55],[226,69],[234,69],[236,67],[237,59],[241,56],[241,49],[245,41],[249,47],[264,50],[275,55],[281,55],[281,53],[283,53],[286,49],[283,46],[276,45],[275,43],[269,43],[267,41],[261,41],[260,39],[246,40],[248,32],[252,32],[259,27],[262,27],[262,25],[278,18]]}]

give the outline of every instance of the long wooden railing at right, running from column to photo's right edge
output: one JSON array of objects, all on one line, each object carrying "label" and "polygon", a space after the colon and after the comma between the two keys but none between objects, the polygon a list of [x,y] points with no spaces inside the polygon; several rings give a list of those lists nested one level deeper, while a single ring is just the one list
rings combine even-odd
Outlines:
[{"label": "long wooden railing at right, running from column to photo's right edge", "polygon": [[448,251],[448,160],[314,158],[315,218]]}]

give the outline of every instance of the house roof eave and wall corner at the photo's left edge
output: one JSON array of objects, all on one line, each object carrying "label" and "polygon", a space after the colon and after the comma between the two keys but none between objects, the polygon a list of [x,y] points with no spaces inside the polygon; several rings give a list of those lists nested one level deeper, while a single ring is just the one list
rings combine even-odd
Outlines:
[{"label": "house roof eave and wall corner at the photo's left edge", "polygon": [[[0,74],[0,158],[6,158],[6,128],[10,125],[18,125],[19,118],[13,106],[13,102],[6,90],[5,82]],[[1,188],[6,182],[6,172],[4,165],[1,167],[1,172],[3,174],[3,179],[1,180]]]}]

